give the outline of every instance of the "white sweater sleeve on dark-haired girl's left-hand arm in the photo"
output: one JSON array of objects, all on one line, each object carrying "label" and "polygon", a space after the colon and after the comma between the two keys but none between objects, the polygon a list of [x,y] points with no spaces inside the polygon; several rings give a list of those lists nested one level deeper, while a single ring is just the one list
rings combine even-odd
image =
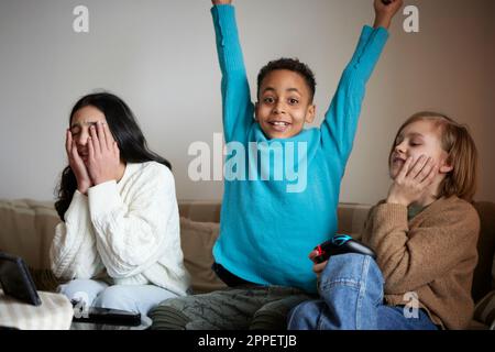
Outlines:
[{"label": "white sweater sleeve on dark-haired girl's left-hand arm in the photo", "polygon": [[50,249],[54,275],[64,279],[96,276],[103,266],[96,249],[87,197],[76,190],[64,219],[55,228]]}]

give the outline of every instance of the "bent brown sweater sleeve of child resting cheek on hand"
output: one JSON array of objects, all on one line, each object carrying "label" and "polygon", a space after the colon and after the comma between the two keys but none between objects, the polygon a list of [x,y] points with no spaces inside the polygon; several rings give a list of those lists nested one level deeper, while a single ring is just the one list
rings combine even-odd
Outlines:
[{"label": "bent brown sweater sleeve of child resting cheek on hand", "polygon": [[468,206],[446,209],[415,229],[400,205],[378,205],[371,218],[364,241],[376,252],[388,295],[415,290],[468,260],[480,231],[477,213]]}]

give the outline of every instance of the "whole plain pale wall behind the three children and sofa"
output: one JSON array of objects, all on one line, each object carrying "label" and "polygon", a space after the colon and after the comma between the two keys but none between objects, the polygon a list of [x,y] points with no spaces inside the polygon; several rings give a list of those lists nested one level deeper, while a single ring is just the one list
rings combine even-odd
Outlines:
[{"label": "whole plain pale wall behind the three children and sofa", "polygon": [[[436,109],[471,125],[481,155],[477,198],[495,201],[494,1],[405,2],[419,7],[420,33],[405,33],[403,15],[394,22],[369,85],[341,200],[383,197],[396,129],[411,113]],[[73,31],[78,4],[89,8],[89,34]],[[320,123],[361,26],[372,21],[372,0],[235,4],[253,91],[266,62],[299,57],[316,73]],[[187,176],[190,143],[211,145],[221,132],[209,9],[209,0],[1,0],[0,198],[53,199],[69,110],[105,88],[131,106],[151,147],[173,163],[178,198],[220,199],[220,182]]]}]

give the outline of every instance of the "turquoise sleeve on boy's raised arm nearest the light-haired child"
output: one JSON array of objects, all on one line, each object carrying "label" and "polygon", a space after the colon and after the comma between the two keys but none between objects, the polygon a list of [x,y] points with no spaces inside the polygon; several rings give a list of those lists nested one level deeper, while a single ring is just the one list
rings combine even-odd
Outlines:
[{"label": "turquoise sleeve on boy's raised arm nearest the light-haired child", "polygon": [[342,74],[321,124],[322,146],[331,157],[337,153],[342,173],[352,151],[366,82],[387,38],[388,32],[384,28],[363,28],[354,55]]}]

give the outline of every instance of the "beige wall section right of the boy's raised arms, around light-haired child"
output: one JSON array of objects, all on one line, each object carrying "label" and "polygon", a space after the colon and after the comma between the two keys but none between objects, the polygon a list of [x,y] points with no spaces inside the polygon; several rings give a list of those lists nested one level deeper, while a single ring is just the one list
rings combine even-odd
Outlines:
[{"label": "beige wall section right of the boy's raised arms, around light-haired child", "polygon": [[405,2],[419,7],[420,33],[393,32],[370,85],[341,199],[386,195],[385,163],[397,128],[416,111],[438,110],[470,125],[480,150],[476,198],[495,201],[494,1]]}]

